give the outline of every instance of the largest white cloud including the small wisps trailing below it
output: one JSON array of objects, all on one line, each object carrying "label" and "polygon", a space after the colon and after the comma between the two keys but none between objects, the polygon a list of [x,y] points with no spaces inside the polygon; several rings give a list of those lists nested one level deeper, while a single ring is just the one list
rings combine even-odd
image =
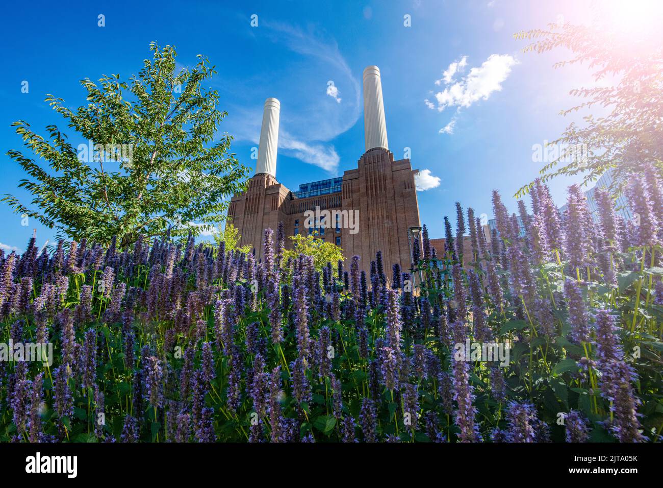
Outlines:
[{"label": "largest white cloud including the small wisps trailing below it", "polygon": [[442,112],[449,107],[456,108],[453,119],[440,129],[440,133],[453,133],[456,116],[461,108],[469,108],[480,100],[488,100],[491,94],[501,91],[502,83],[516,64],[518,60],[509,54],[491,54],[481,66],[471,68],[467,75],[455,81],[455,76],[462,74],[467,66],[467,56],[453,61],[442,73],[442,78],[435,81],[438,86],[445,85],[444,90],[435,94],[437,106],[428,98],[424,100],[430,110],[437,108],[438,112]]}]

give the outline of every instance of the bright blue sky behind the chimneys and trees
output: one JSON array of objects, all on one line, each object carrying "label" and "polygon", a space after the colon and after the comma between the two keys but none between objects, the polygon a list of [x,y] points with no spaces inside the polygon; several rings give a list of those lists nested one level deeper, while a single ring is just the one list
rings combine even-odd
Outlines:
[{"label": "bright blue sky behind the chimneys and trees", "polygon": [[[26,120],[44,134],[46,125],[56,123],[75,139],[44,103],[46,94],[72,108],[84,104],[79,80],[111,73],[128,78],[150,55],[151,41],[174,44],[182,65],[195,64],[196,54],[216,64],[219,74],[211,85],[229,114],[221,130],[235,136],[233,151],[249,167],[255,167],[251,148],[257,146],[265,98],[280,100],[276,177],[291,190],[356,167],[364,149],[361,74],[365,66],[379,66],[390,149],[400,159],[409,147],[412,167],[428,170],[420,183],[430,188],[418,200],[432,237],[443,236],[442,218],[454,214],[455,201],[491,216],[491,190],[511,197],[536,177],[541,163],[532,161],[532,145],[560,135],[573,120],[559,115],[574,102],[569,90],[593,84],[585,67],[552,68],[568,52],[523,54],[525,43],[512,37],[560,19],[585,21],[587,3],[581,1],[145,4],[36,1],[1,7],[6,70],[0,78],[0,195],[30,201],[17,189],[23,171],[5,155],[22,147],[10,124]],[[105,27],[97,25],[100,14]],[[251,15],[258,16],[257,27],[251,27]],[[21,92],[23,81],[28,93]],[[337,92],[328,90],[330,81]],[[552,183],[558,204],[570,183]],[[516,210],[513,199],[507,204]],[[23,250],[33,228],[38,245],[56,234],[34,220],[23,225],[4,203],[0,219],[5,249]]]}]

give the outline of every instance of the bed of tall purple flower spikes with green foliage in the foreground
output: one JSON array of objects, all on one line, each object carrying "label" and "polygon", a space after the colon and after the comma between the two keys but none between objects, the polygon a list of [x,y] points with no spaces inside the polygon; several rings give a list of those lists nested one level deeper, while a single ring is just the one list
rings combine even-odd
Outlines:
[{"label": "bed of tall purple flower spikes with green foliage in the foreground", "polygon": [[0,260],[0,339],[54,353],[0,363],[0,440],[657,441],[660,179],[632,179],[635,220],[596,195],[597,220],[577,186],[560,214],[537,182],[520,232],[495,192],[489,243],[458,205],[444,252],[424,228],[412,270],[378,253],[369,276],[285,260],[282,229],[262,262],[32,240]]}]

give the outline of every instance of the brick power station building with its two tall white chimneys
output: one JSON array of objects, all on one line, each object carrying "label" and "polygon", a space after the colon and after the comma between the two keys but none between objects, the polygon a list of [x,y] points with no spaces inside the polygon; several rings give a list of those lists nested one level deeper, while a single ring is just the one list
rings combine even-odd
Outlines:
[{"label": "brick power station building with its two tall white chimneys", "polygon": [[[247,191],[235,195],[228,208],[241,234],[240,245],[253,245],[257,259],[262,257],[265,228],[276,234],[278,222],[283,222],[286,236],[316,231],[319,238],[341,246],[347,264],[358,254],[366,272],[378,250],[387,270],[394,263],[403,270],[410,267],[408,228],[420,226],[414,183],[418,170],[412,169],[409,159],[394,161],[389,151],[377,66],[364,70],[363,96],[366,151],[357,168],[342,177],[304,183],[298,191],[276,179],[280,102],[276,98],[265,102],[255,175]],[[292,246],[290,239],[286,238],[286,246]]]}]

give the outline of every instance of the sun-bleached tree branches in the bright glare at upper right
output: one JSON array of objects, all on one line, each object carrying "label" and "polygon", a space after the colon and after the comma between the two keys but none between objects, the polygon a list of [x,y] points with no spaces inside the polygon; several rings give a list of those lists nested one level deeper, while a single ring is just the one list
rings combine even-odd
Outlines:
[{"label": "sun-bleached tree branches in the bright glare at upper right", "polygon": [[[583,100],[561,112],[566,116],[579,110],[600,108],[607,114],[583,117],[584,125],[570,123],[561,137],[551,144],[584,147],[586,159],[569,161],[568,153],[545,165],[540,173],[547,181],[558,175],[584,173],[587,185],[608,169],[613,169],[613,191],[619,193],[629,173],[642,165],[663,161],[663,43],[660,25],[643,23],[638,31],[625,32],[624,26],[610,19],[606,5],[596,2],[594,20],[589,25],[553,23],[548,29],[520,31],[516,39],[535,40],[523,52],[547,52],[564,47],[572,52],[570,60],[554,68],[583,63],[602,82],[596,88],[578,88],[570,93]],[[520,188],[516,197],[527,193],[532,183]]]}]

